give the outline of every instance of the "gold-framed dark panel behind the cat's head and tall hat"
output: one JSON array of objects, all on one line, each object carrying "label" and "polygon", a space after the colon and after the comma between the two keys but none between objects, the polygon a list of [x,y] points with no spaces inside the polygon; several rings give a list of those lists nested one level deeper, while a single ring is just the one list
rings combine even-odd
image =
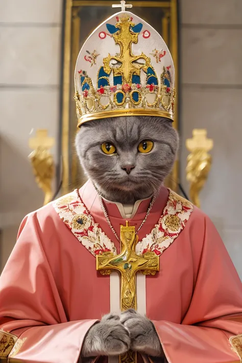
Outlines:
[{"label": "gold-framed dark panel behind the cat's head and tall hat", "polygon": [[[74,151],[74,138],[77,127],[77,117],[75,113],[74,96],[74,70],[76,60],[84,42],[84,39],[107,17],[111,16],[119,9],[112,9],[112,4],[118,4],[116,0],[65,0],[64,4],[64,34],[63,34],[63,69],[62,69],[62,103],[61,103],[61,154],[62,154],[62,194],[68,193],[76,187],[80,187],[84,180],[83,174],[80,172],[79,161]],[[175,102],[175,120],[174,127],[178,130],[178,14],[177,0],[166,1],[129,1],[132,3],[133,11],[138,16],[144,18],[151,23],[154,18],[157,29],[168,48],[170,49],[176,71],[176,102]],[[95,8],[96,7],[96,8]],[[147,8],[147,9],[146,9]],[[95,16],[90,16],[90,22],[87,21],[88,11],[92,13],[95,9],[99,9],[97,23],[94,23]],[[149,9],[149,11],[148,11]],[[145,12],[144,12],[145,11]],[[148,16],[150,12],[150,17]],[[84,13],[81,14],[81,13]],[[159,15],[159,13],[161,15]],[[94,11],[95,14],[95,11]],[[104,18],[102,18],[105,16]],[[159,17],[160,16],[160,17]],[[147,17],[147,19],[145,18]],[[93,19],[93,24],[91,23]],[[81,28],[84,23],[83,29]],[[153,22],[152,22],[153,25]],[[81,174],[80,174],[81,173]],[[179,163],[175,163],[171,177],[167,184],[173,190],[177,189],[179,175]]]}]

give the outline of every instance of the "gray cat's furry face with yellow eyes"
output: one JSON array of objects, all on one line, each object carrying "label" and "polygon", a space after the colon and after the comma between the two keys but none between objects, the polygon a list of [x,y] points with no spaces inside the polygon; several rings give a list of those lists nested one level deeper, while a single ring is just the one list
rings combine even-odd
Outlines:
[{"label": "gray cat's furry face with yellow eyes", "polygon": [[165,118],[113,117],[83,124],[76,149],[103,197],[133,203],[158,192],[175,161],[178,135]]}]

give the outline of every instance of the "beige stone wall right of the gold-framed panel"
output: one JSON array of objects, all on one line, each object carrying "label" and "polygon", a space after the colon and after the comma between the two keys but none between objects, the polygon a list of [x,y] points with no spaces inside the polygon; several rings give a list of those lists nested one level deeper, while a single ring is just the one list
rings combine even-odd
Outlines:
[{"label": "beige stone wall right of the gold-framed panel", "polygon": [[181,12],[182,183],[188,191],[185,140],[206,128],[214,149],[201,206],[242,278],[242,2],[181,0]]}]

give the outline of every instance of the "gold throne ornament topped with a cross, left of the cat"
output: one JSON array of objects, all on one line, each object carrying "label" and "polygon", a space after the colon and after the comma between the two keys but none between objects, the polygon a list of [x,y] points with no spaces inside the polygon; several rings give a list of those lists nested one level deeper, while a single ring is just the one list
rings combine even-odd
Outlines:
[{"label": "gold throne ornament topped with a cross, left of the cat", "polygon": [[44,192],[44,205],[53,197],[52,182],[55,174],[54,158],[49,150],[55,139],[47,135],[47,130],[37,130],[36,137],[29,139],[29,147],[34,151],[29,155],[35,180]]}]

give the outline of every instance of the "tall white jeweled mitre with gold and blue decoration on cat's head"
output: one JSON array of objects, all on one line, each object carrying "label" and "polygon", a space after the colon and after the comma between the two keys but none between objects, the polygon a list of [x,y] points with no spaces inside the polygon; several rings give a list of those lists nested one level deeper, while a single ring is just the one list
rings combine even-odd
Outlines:
[{"label": "tall white jeweled mitre with gold and blue decoration on cat's head", "polygon": [[84,43],[75,70],[78,126],[104,117],[173,119],[172,56],[147,22],[130,12],[104,21]]}]

